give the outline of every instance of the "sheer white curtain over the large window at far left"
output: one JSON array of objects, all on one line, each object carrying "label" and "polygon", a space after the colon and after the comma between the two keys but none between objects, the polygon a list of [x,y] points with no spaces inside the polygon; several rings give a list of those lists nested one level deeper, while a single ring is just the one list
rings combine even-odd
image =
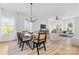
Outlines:
[{"label": "sheer white curtain over the large window at far left", "polygon": [[12,17],[1,17],[2,41],[14,40],[15,19]]}]

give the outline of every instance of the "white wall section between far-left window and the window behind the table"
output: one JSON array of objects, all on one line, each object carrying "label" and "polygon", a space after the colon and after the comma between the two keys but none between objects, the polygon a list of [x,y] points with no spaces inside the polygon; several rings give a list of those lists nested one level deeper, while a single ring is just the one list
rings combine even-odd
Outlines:
[{"label": "white wall section between far-left window and the window behind the table", "polygon": [[21,32],[24,30],[24,18],[25,16],[21,14],[16,15],[16,20],[15,20],[16,32]]}]

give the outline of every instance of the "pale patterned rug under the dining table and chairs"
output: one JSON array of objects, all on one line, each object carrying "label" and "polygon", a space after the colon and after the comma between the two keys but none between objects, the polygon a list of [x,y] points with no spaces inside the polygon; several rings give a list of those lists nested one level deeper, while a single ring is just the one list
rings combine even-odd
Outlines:
[{"label": "pale patterned rug under the dining table and chairs", "polygon": [[[40,55],[55,55],[61,48],[62,48],[61,45],[52,44],[52,42],[49,40],[46,43],[46,51],[44,50],[44,48],[42,48],[39,50],[39,53]],[[9,55],[37,55],[37,49],[35,48],[34,50],[31,50],[28,46],[25,46],[24,50],[21,51],[21,49],[18,48],[17,44],[15,44],[14,49],[11,49],[10,47],[8,54]]]}]

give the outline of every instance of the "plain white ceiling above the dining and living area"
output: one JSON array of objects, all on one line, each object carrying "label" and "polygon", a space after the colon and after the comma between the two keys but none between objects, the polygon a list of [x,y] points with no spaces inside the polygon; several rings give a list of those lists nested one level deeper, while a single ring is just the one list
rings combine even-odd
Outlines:
[{"label": "plain white ceiling above the dining and living area", "polygon": [[[0,7],[18,11],[30,16],[29,3],[0,3]],[[62,16],[63,14],[79,8],[78,3],[34,3],[33,15],[40,18]]]}]

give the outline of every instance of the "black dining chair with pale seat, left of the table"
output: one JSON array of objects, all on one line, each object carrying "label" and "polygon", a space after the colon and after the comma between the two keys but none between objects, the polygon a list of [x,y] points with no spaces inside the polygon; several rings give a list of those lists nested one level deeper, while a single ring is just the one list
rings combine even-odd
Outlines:
[{"label": "black dining chair with pale seat, left of the table", "polygon": [[26,38],[23,38],[22,33],[17,33],[17,37],[18,37],[18,42],[19,42],[19,48],[22,46],[21,51],[23,51],[23,47],[24,47],[25,43],[26,43],[26,45],[29,45],[29,47],[31,48],[31,46],[29,44],[30,39],[28,36]]}]

